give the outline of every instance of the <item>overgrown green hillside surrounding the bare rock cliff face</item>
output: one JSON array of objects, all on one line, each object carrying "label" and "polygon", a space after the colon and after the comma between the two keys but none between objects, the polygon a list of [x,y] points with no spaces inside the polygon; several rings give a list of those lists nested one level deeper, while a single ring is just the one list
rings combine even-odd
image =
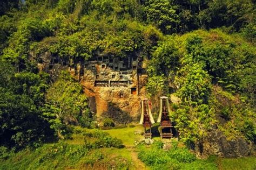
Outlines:
[{"label": "overgrown green hillside surrounding the bare rock cliff face", "polygon": [[[80,63],[100,55],[138,58],[136,68],[147,80],[143,97],[155,103],[153,116],[159,97],[168,96],[179,141],[198,157],[253,154],[254,1],[2,1],[0,15],[3,153],[5,147],[17,151],[64,140],[73,133],[70,125],[122,126],[110,115],[137,121],[116,114],[120,108],[100,122],[90,111],[89,97],[69,68],[77,73]],[[58,57],[54,74],[39,67],[50,67],[44,55],[49,62]]]}]

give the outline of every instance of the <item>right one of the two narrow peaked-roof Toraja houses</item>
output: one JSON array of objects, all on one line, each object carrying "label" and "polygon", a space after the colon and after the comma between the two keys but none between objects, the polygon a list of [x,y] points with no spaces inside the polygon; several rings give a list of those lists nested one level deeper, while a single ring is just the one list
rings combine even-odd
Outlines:
[{"label": "right one of the two narrow peaked-roof Toraja houses", "polygon": [[161,138],[172,137],[172,122],[169,117],[171,112],[168,97],[160,97],[160,111],[157,122],[160,123],[160,136]]}]

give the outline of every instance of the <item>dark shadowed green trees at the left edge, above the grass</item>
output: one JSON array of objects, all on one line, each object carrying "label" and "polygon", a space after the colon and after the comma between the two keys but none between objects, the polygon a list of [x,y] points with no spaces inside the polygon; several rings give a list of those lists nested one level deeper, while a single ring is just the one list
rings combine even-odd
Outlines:
[{"label": "dark shadowed green trees at the left edge, above the grass", "polygon": [[52,134],[41,112],[45,80],[14,70],[0,60],[0,145],[38,146]]}]

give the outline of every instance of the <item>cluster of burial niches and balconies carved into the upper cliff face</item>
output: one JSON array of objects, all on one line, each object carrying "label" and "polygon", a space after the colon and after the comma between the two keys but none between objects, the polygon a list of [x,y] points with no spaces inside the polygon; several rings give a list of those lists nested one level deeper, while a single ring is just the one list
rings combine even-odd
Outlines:
[{"label": "cluster of burial niches and balconies carved into the upper cliff face", "polygon": [[[95,87],[127,88],[127,93],[137,95],[137,82],[134,75],[137,75],[137,56],[126,58],[114,58],[114,56],[95,56],[86,61],[86,68],[93,72]],[[130,92],[129,92],[130,91]]]}]

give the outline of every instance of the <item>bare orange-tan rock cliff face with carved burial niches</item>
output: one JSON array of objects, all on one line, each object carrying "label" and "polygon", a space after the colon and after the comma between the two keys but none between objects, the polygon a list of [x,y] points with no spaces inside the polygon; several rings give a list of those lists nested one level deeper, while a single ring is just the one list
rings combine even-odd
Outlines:
[{"label": "bare orange-tan rock cliff face with carved burial niches", "polygon": [[45,52],[37,62],[38,68],[50,73],[53,79],[60,70],[69,70],[82,84],[89,107],[98,118],[104,114],[114,115],[114,112],[128,114],[132,119],[140,115],[140,98],[145,97],[147,75],[138,67],[137,56],[122,59],[98,55],[89,61],[67,62]]}]

